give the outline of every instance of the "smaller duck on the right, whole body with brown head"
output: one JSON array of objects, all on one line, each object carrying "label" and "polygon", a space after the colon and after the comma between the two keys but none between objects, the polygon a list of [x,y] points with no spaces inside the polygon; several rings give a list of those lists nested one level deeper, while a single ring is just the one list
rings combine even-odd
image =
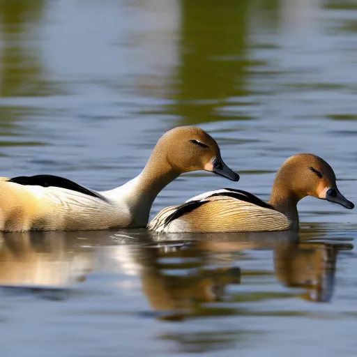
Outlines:
[{"label": "smaller duck on the right, whole body with brown head", "polygon": [[284,161],[268,202],[223,188],[162,209],[148,228],[164,233],[294,230],[299,225],[296,205],[306,196],[354,208],[338,190],[332,167],[317,155],[301,153]]}]

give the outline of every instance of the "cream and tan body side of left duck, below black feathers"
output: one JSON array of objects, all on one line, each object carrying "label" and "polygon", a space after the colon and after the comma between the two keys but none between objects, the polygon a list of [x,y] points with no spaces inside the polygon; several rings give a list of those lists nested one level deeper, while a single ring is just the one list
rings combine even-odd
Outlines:
[{"label": "cream and tan body side of left duck, below black feathers", "polygon": [[96,230],[130,220],[125,204],[100,192],[10,180],[0,178],[0,231]]}]

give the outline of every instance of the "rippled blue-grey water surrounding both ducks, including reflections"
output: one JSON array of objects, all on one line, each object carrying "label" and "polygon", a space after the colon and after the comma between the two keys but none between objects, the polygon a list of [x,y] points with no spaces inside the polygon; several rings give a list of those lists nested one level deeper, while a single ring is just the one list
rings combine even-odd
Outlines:
[{"label": "rippled blue-grey water surrounding both ducks, including reflections", "polygon": [[[98,190],[198,125],[241,181],[185,174],[151,217],[230,186],[268,199],[312,152],[357,201],[357,1],[0,1],[1,175]],[[354,356],[356,210],[291,234],[3,234],[1,356]]]}]

